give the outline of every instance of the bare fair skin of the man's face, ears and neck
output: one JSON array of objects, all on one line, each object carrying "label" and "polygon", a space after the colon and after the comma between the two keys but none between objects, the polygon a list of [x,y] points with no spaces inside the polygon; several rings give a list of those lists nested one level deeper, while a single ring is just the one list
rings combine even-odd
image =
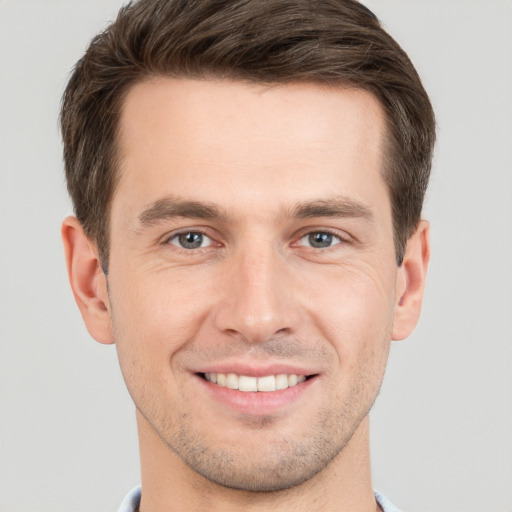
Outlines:
[{"label": "bare fair skin of the man's face, ears and neck", "polygon": [[[116,343],[137,408],[142,512],[376,509],[368,412],[391,340],[418,320],[429,258],[422,221],[396,266],[384,137],[360,90],[130,90],[108,293],[76,219],[63,239],[86,326]],[[201,246],[180,246],[186,233]],[[276,365],[312,378],[274,408],[234,407],[198,375]]]}]

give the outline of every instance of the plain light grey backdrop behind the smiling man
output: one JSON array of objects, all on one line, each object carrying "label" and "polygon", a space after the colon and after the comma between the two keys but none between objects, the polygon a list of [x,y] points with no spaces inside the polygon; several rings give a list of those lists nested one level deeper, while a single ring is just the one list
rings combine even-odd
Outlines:
[{"label": "plain light grey backdrop behind the smiling man", "polygon": [[[372,418],[375,487],[410,512],[512,510],[512,2],[366,2],[437,111],[423,316]],[[116,510],[139,481],[115,349],[64,270],[57,114],[119,0],[0,0],[0,511]]]}]

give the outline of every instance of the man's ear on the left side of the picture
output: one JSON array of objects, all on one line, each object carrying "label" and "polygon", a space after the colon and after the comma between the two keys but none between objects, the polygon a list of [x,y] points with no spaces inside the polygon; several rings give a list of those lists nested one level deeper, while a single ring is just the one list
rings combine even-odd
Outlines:
[{"label": "man's ear on the left side of the picture", "polygon": [[71,289],[89,334],[100,343],[114,343],[107,280],[96,245],[75,217],[64,219],[62,241]]}]

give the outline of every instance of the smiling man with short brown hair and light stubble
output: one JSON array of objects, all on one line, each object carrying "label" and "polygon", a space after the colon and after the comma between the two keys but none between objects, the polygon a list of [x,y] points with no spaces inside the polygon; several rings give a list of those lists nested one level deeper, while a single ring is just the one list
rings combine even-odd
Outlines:
[{"label": "smiling man with short brown hair and light stubble", "polygon": [[62,234],[136,406],[122,511],[396,510],[368,413],[420,314],[435,138],[352,0],[142,0],[62,105]]}]

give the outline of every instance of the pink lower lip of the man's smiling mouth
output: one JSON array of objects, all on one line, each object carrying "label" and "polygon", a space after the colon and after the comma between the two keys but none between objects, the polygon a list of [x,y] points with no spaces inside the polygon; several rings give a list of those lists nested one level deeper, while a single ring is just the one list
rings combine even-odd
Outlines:
[{"label": "pink lower lip of the man's smiling mouth", "polygon": [[199,375],[196,378],[216,401],[237,412],[254,416],[274,414],[296,403],[302,395],[314,385],[317,376],[279,391],[239,391],[209,382]]}]

